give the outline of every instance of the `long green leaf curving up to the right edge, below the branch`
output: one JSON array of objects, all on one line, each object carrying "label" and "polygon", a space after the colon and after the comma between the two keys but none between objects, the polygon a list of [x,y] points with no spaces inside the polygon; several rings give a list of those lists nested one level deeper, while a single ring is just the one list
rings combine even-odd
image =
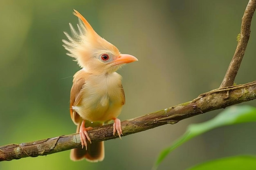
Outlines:
[{"label": "long green leaf curving up to the right edge, below the branch", "polygon": [[155,162],[153,170],[157,169],[157,166],[159,166],[159,164],[171,151],[184,144],[186,141],[189,141],[189,139],[192,139],[193,137],[221,126],[254,121],[256,121],[256,108],[252,106],[231,106],[209,121],[205,121],[200,124],[191,124],[180,139],[175,141],[171,146],[162,150],[157,158],[157,161]]}]

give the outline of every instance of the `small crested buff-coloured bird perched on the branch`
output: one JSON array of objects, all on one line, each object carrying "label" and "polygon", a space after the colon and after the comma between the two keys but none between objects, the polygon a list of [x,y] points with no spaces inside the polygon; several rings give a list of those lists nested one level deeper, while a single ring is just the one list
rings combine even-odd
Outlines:
[{"label": "small crested buff-coloured bird perched on the branch", "polygon": [[104,159],[104,143],[92,143],[87,131],[114,120],[113,135],[117,132],[121,138],[121,122],[117,116],[125,103],[125,95],[122,77],[115,71],[138,59],[121,54],[117,47],[101,38],[78,11],[74,10],[73,14],[79,18],[78,31],[70,24],[72,36],[64,32],[68,41],[63,40],[63,46],[67,55],[74,57],[82,68],[74,74],[70,91],[70,116],[77,125],[82,147],[72,149],[70,159],[97,162]]}]

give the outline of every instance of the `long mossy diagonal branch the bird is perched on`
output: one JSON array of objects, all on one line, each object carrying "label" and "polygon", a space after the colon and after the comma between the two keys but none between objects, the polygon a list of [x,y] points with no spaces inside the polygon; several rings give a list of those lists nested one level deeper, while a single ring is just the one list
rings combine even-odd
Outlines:
[{"label": "long mossy diagonal branch the bird is perched on", "polygon": [[[122,121],[123,136],[165,124],[175,124],[182,119],[253,99],[256,99],[256,82],[216,89],[203,93],[193,101]],[[113,136],[112,124],[93,128],[88,131],[88,134],[92,142],[118,138],[118,135]],[[49,155],[76,147],[81,147],[79,134],[59,136],[29,143],[9,144],[0,146],[0,161]]]}]

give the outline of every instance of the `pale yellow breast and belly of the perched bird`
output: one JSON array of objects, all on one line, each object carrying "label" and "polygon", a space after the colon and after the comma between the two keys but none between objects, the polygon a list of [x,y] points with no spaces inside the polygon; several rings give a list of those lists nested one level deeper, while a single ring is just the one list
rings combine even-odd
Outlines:
[{"label": "pale yellow breast and belly of the perched bird", "polygon": [[117,117],[124,104],[121,75],[91,75],[82,90],[82,101],[73,109],[85,120],[108,121]]}]

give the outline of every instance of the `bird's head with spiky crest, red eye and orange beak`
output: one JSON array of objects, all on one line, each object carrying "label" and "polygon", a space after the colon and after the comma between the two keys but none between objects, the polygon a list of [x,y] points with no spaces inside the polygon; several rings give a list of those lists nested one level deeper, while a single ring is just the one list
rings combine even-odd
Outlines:
[{"label": "bird's head with spiky crest, red eye and orange beak", "polygon": [[123,64],[138,61],[132,55],[121,54],[117,47],[101,38],[78,11],[74,10],[74,15],[79,18],[78,31],[70,24],[72,36],[64,32],[68,41],[63,40],[63,46],[69,52],[67,55],[74,57],[87,72],[112,73]]}]

